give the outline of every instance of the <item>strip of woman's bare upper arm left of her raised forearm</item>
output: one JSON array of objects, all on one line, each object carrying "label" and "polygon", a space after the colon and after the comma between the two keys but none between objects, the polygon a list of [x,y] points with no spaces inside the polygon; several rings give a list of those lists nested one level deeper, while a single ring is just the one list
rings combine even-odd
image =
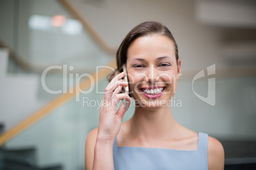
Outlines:
[{"label": "strip of woman's bare upper arm left of her raised forearm", "polygon": [[85,142],[85,169],[92,169],[94,163],[94,146],[96,143],[98,128],[93,129],[87,136]]}]

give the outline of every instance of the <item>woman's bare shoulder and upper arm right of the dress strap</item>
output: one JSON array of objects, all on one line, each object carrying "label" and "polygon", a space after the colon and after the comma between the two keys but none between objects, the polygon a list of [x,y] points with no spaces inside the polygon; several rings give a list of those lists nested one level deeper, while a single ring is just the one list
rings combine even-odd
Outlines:
[{"label": "woman's bare shoulder and upper arm right of the dress strap", "polygon": [[224,148],[217,139],[208,138],[208,167],[209,169],[224,169]]}]

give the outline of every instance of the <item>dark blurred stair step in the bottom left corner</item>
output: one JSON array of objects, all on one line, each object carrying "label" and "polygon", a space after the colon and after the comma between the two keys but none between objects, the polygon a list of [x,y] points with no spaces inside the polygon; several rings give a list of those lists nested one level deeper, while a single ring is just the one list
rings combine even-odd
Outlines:
[{"label": "dark blurred stair step in the bottom left corner", "polygon": [[0,153],[4,162],[15,161],[27,165],[36,164],[36,149],[35,148],[19,148],[19,149],[6,149],[2,148]]}]

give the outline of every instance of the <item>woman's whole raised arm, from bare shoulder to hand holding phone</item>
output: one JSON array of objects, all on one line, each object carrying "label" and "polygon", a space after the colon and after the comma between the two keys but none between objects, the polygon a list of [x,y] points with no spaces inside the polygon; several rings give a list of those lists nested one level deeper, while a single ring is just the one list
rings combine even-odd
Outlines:
[{"label": "woman's whole raised arm, from bare shoulder to hand holding phone", "polygon": [[116,75],[105,89],[101,110],[99,113],[99,128],[92,130],[85,144],[85,169],[114,170],[113,143],[120,131],[122,119],[126,112],[124,103],[117,111],[117,104],[124,98],[131,102],[126,93],[121,93],[128,83],[120,81],[125,73]]}]

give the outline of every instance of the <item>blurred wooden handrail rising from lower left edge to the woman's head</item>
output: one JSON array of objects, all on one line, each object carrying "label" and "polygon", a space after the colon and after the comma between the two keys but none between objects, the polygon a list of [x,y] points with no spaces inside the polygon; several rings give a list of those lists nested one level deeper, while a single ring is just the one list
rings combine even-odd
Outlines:
[{"label": "blurred wooden handrail rising from lower left edge to the woman's head", "polygon": [[[108,67],[115,68],[116,67],[115,60],[113,62],[111,62],[110,64],[108,64]],[[100,80],[100,79],[103,79],[104,77],[106,77],[108,74],[110,74],[110,69],[101,69],[101,70],[99,70],[99,72],[97,72],[97,75],[96,75],[96,72],[94,72],[94,74],[92,74],[92,77],[95,80],[96,76],[97,76],[98,79]],[[43,117],[50,114],[50,112],[53,111],[55,108],[59,107],[60,105],[62,105],[64,103],[66,103],[68,100],[71,100],[71,98],[75,97],[76,90],[78,90],[78,88],[79,89],[86,89],[90,85],[92,85],[92,84],[90,84],[90,79],[85,79],[84,81],[82,81],[80,84],[78,84],[73,89],[73,93],[66,93],[64,95],[59,96],[55,100],[48,103],[48,105],[46,105],[45,107],[41,108],[40,110],[38,110],[37,112],[35,112],[31,116],[27,117],[27,119],[25,119],[24,121],[20,122],[19,124],[17,124],[13,128],[11,128],[10,130],[1,134],[1,136],[0,136],[0,146],[3,145],[4,143],[6,143],[6,141],[11,140],[11,138],[16,136],[17,134],[22,133],[22,131],[29,128],[29,126],[31,126],[32,124],[38,122],[40,119],[43,119]]]}]

